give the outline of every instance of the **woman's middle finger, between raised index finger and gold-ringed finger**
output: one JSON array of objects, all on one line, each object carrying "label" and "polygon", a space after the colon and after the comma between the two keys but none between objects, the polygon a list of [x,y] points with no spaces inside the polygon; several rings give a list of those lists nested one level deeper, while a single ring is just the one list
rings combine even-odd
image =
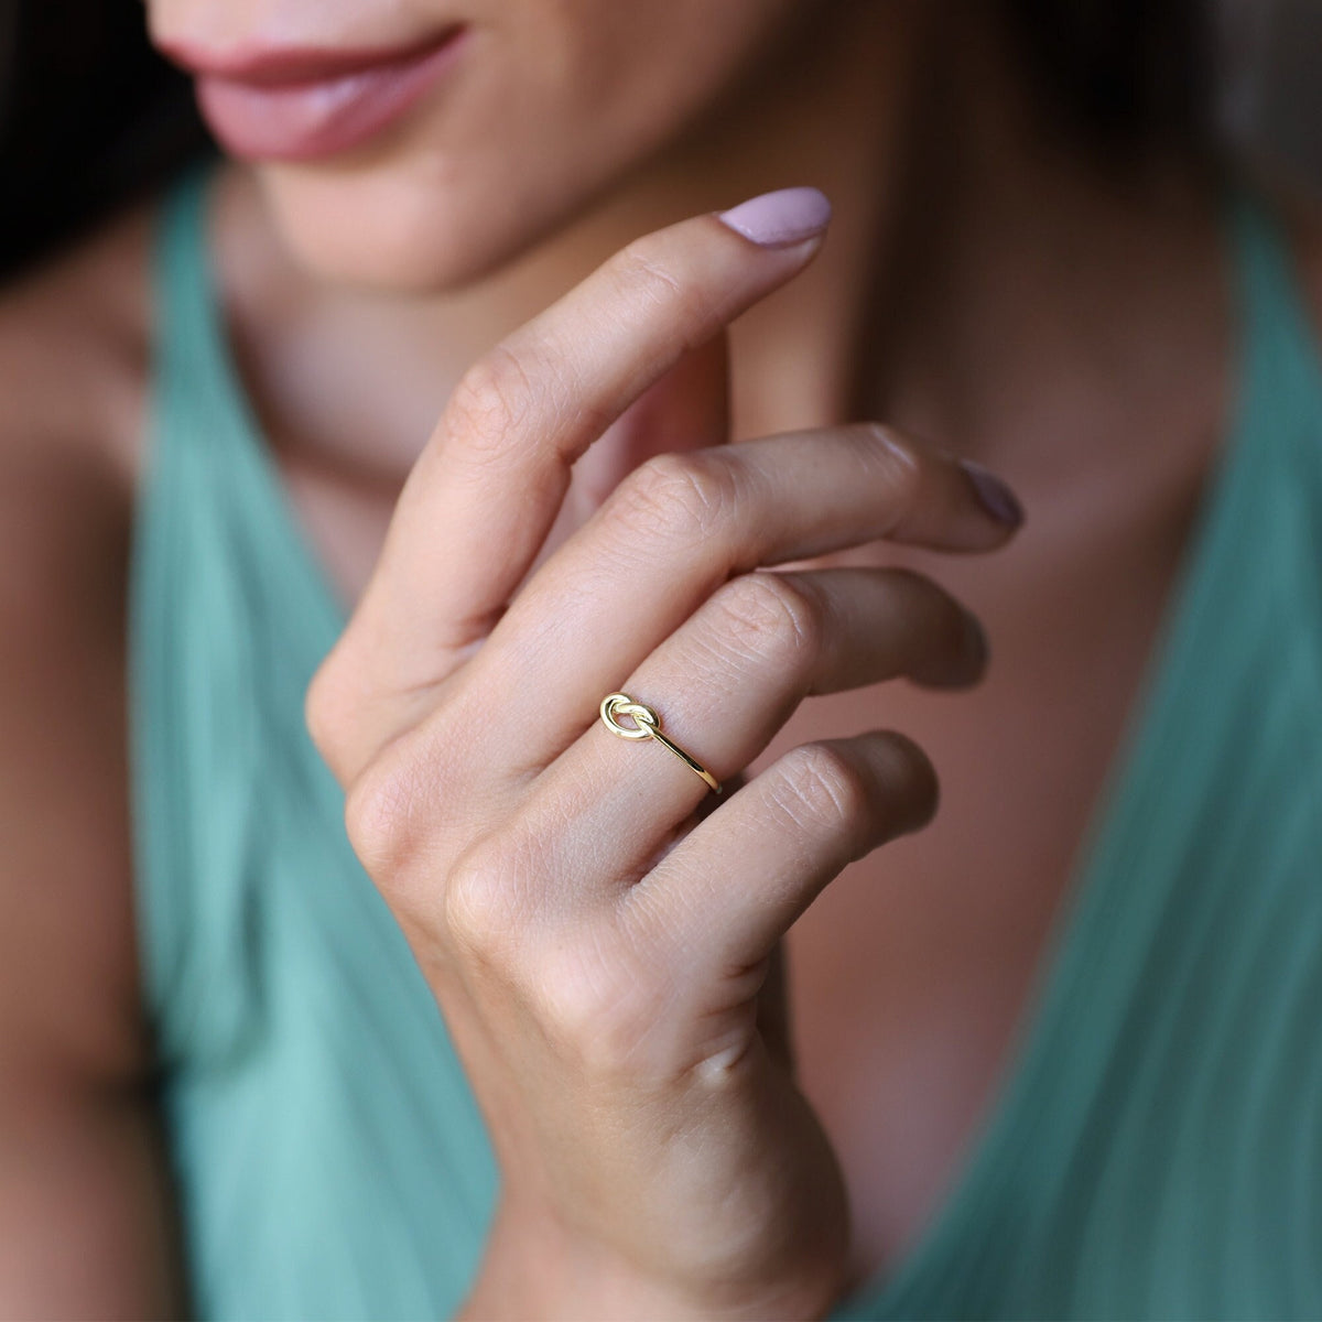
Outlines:
[{"label": "woman's middle finger, between raised index finger and gold-ringed finger", "polygon": [[629,475],[529,580],[469,664],[463,693],[535,693],[484,739],[524,775],[550,764],[726,580],[879,538],[939,550],[1001,546],[1017,520],[988,475],[870,423],[662,455]]}]

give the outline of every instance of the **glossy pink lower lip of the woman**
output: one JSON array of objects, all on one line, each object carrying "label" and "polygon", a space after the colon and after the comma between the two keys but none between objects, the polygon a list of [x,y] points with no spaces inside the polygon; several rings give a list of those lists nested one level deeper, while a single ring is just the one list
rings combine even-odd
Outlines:
[{"label": "glossy pink lower lip of the woman", "polygon": [[403,116],[455,62],[465,29],[389,63],[320,82],[197,78],[197,103],[221,145],[247,160],[312,160],[349,151]]}]

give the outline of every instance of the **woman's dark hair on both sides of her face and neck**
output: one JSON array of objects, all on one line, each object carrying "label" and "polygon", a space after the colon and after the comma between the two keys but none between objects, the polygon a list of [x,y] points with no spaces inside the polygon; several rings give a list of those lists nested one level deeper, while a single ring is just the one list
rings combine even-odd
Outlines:
[{"label": "woman's dark hair on both sides of her face and neck", "polygon": [[[1077,131],[1190,145],[1207,102],[1206,0],[1002,0]],[[214,151],[137,0],[0,0],[0,279]]]}]

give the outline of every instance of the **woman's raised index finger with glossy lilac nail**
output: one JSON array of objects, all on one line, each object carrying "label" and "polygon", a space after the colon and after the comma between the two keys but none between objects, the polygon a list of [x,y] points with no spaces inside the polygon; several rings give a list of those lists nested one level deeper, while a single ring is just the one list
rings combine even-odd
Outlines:
[{"label": "woman's raised index finger with glossy lilac nail", "polygon": [[681,354],[802,270],[829,218],[816,189],[783,189],[648,234],[464,375],[350,624],[385,672],[374,687],[435,683],[485,637],[572,463]]}]

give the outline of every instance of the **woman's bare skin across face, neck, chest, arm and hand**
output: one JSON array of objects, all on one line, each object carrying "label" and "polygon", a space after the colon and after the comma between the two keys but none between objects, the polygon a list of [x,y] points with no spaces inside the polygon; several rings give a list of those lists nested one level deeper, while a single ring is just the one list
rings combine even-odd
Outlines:
[{"label": "woman's bare skin across face, neck, chest, arm and hand", "polygon": [[[1233,383],[1208,188],[1056,141],[984,8],[695,7],[473,8],[485,54],[452,97],[327,165],[229,167],[212,217],[246,383],[357,607],[309,723],[504,1157],[475,1315],[810,1315],[915,1243],[1030,1003]],[[151,0],[148,19],[163,41],[279,25],[350,45],[448,13]],[[832,196],[825,243],[764,251],[701,214],[789,182]],[[0,636],[25,640],[0,653],[12,1315],[177,1314],[182,1290],[120,735],[147,219],[0,307]],[[571,426],[588,405],[602,435]],[[557,446],[583,453],[572,475]],[[1013,481],[1029,520],[1009,545],[943,452]],[[760,476],[713,500],[735,469]],[[465,550],[493,526],[494,563]],[[472,571],[442,572],[456,561]],[[612,591],[642,582],[658,613],[621,613]],[[981,670],[956,600],[994,650],[957,695],[931,687]],[[538,740],[484,726],[455,763],[533,656]],[[927,686],[875,682],[902,674]],[[703,802],[678,763],[590,724],[617,687],[746,788]],[[916,744],[859,734],[878,730]],[[871,851],[931,814],[929,763],[933,824]],[[442,833],[427,805],[459,785]],[[649,805],[632,832],[612,787]],[[755,894],[769,925],[750,925]],[[750,1022],[787,929],[797,1087],[784,1035]],[[598,1032],[595,998],[624,982],[641,999],[612,1003],[639,1014]],[[524,1071],[554,1105],[527,1103]],[[587,1108],[633,1122],[584,1134]],[[746,1191],[736,1225],[666,1138],[681,1121]],[[620,1171],[656,1224],[603,1194]]]}]

